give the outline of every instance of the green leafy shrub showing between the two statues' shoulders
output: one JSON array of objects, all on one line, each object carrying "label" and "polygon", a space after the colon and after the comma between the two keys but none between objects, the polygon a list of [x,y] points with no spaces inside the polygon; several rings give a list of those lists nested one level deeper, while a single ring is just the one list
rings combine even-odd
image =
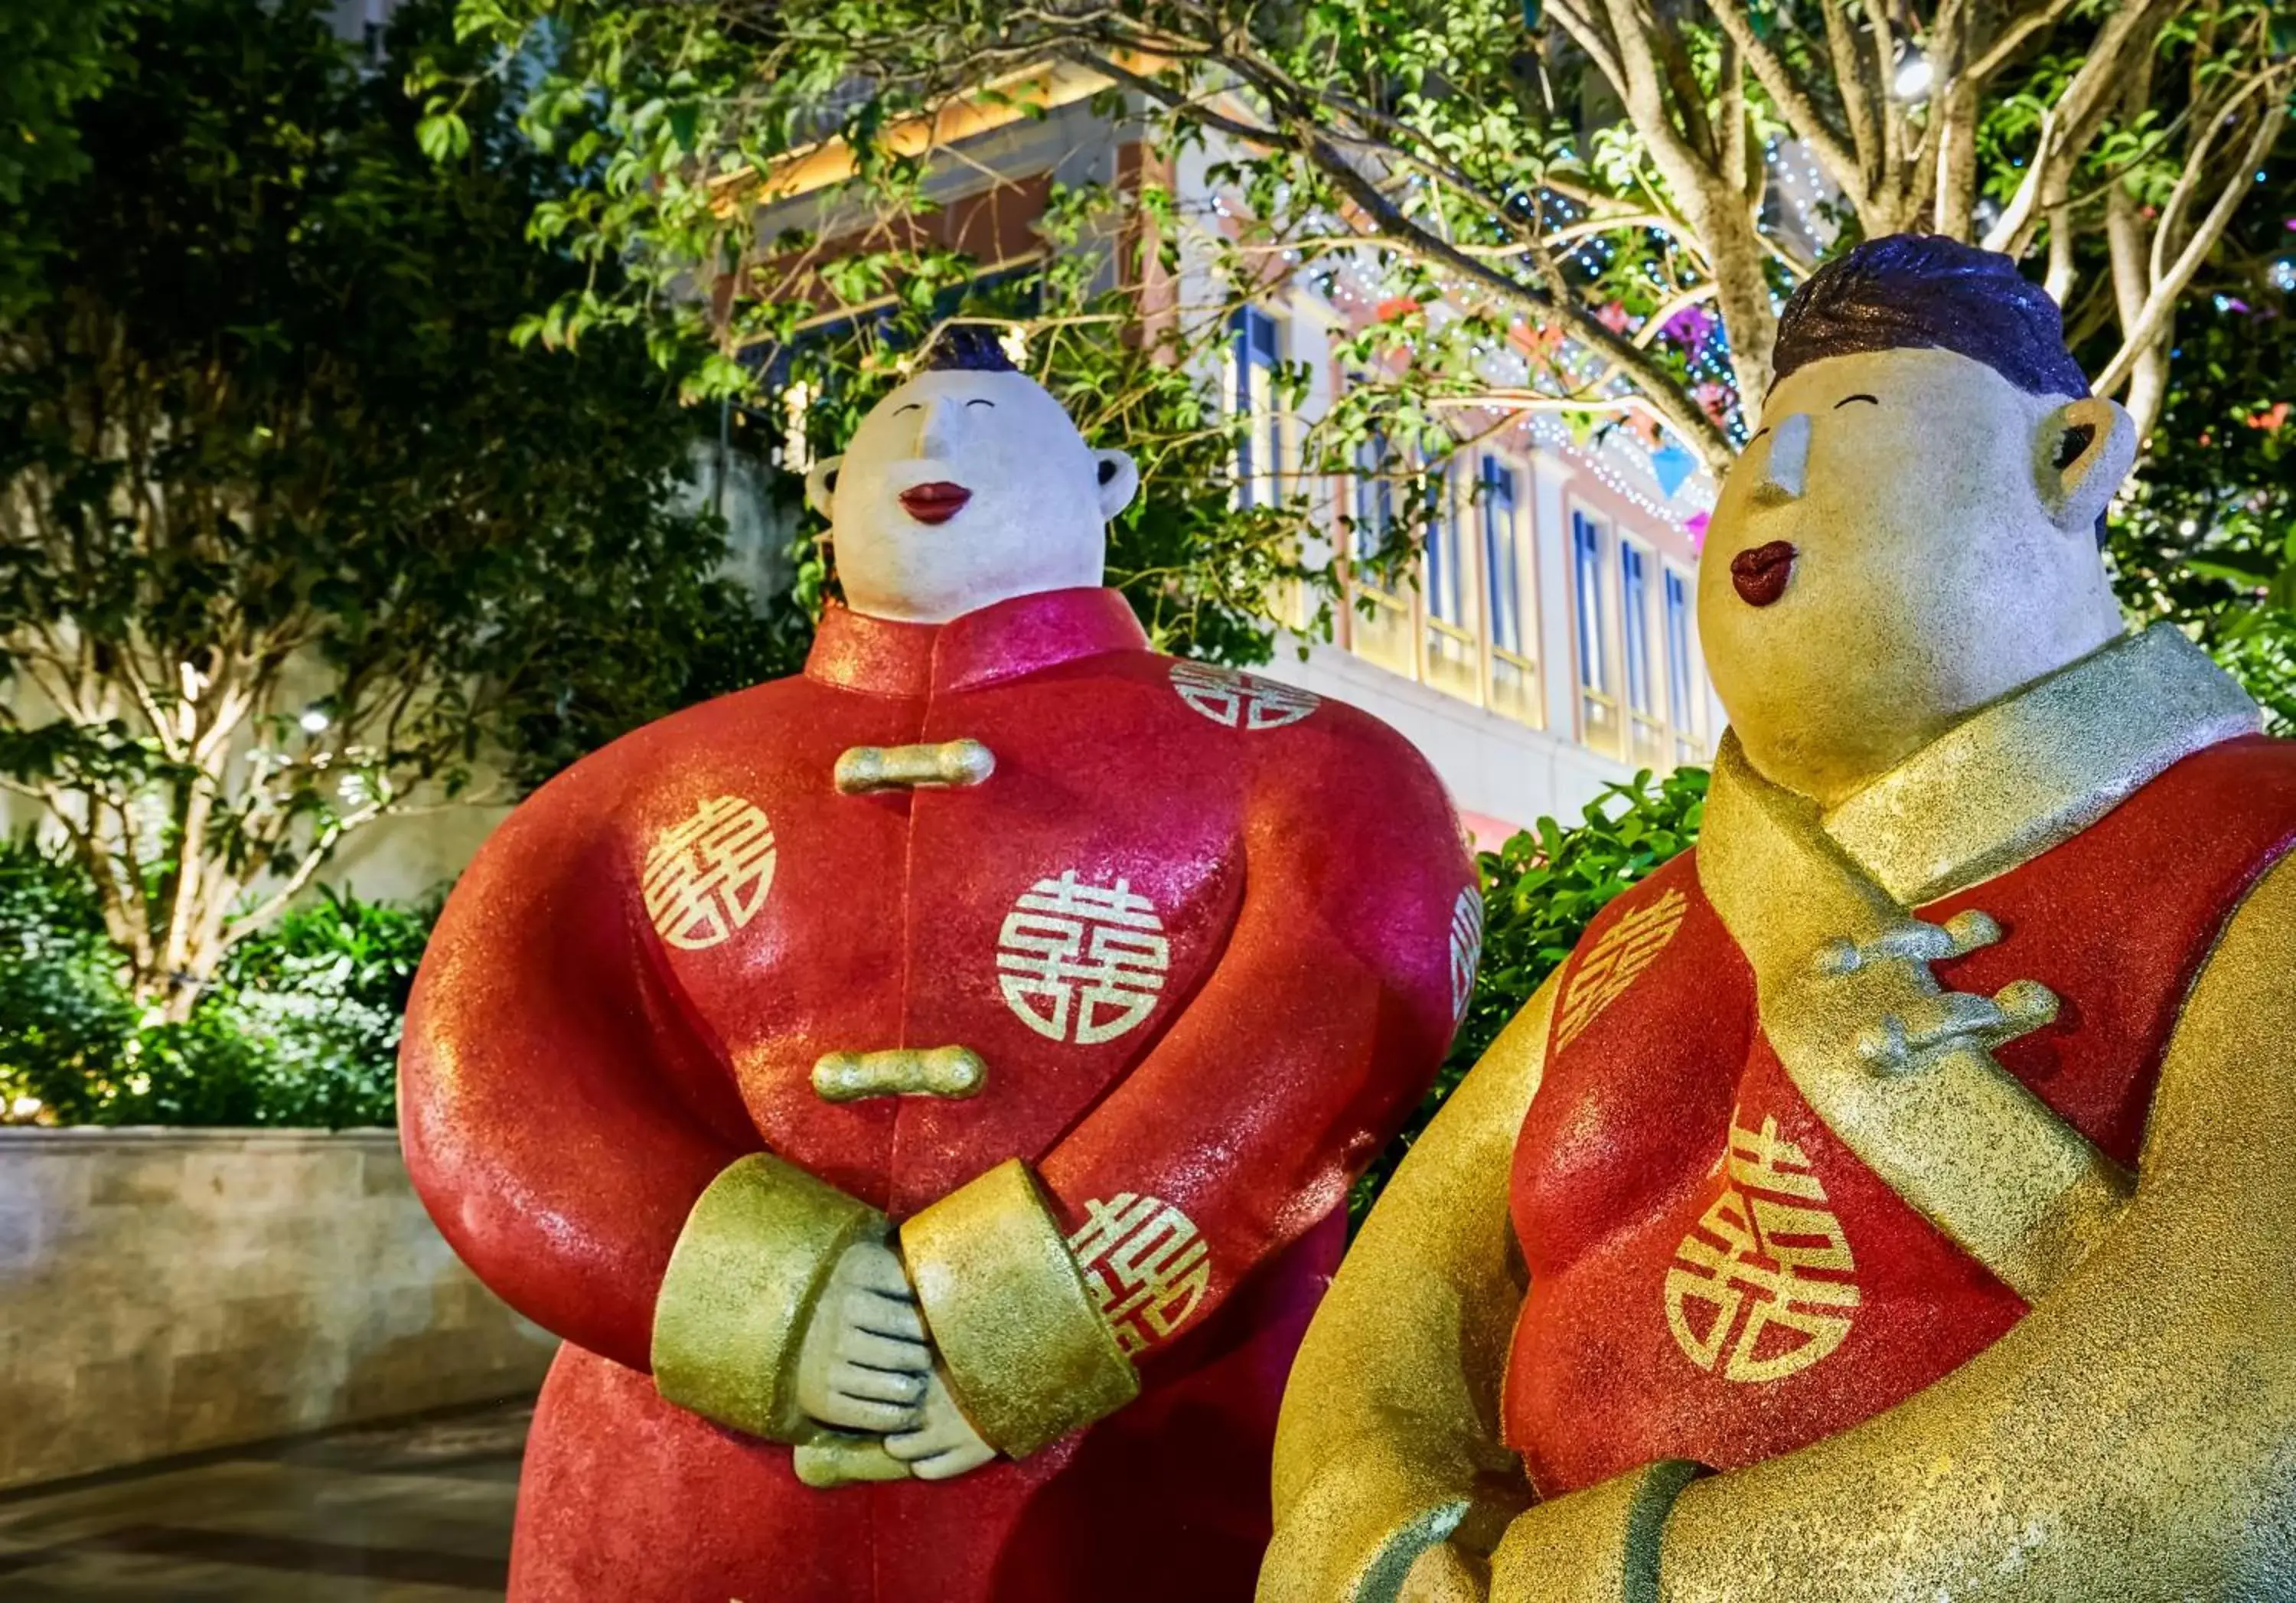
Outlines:
[{"label": "green leafy shrub showing between the two statues' shoulders", "polygon": [[1481,854],[1483,967],[1474,976],[1467,1017],[1403,1135],[1389,1141],[1348,1194],[1350,1224],[1362,1224],[1435,1109],[1548,974],[1570,955],[1587,923],[1619,891],[1697,843],[1704,813],[1706,769],[1678,767],[1655,783],[1644,769],[1623,785],[1605,785],[1577,824],[1541,818],[1536,829]]}]

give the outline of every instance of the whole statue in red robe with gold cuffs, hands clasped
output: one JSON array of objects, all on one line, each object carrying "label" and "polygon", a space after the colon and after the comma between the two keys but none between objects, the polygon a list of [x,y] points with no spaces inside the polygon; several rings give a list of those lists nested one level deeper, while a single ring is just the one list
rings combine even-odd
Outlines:
[{"label": "whole statue in red robe with gold cuffs, hands clasped", "polygon": [[1134,489],[946,340],[808,482],[804,675],[579,762],[448,903],[409,1167],[565,1337],[517,1603],[1249,1598],[1481,905],[1398,735],[1148,650]]}]

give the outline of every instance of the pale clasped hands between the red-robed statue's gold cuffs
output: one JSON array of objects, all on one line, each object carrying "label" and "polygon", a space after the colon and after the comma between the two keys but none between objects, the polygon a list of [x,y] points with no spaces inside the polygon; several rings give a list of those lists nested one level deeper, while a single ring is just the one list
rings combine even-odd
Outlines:
[{"label": "pale clasped hands between the red-robed statue's gold cuffs", "polygon": [[797,1353],[797,1405],[831,1428],[882,1435],[923,1481],[996,1456],[948,1394],[916,1291],[879,1242],[854,1242],[829,1272]]}]

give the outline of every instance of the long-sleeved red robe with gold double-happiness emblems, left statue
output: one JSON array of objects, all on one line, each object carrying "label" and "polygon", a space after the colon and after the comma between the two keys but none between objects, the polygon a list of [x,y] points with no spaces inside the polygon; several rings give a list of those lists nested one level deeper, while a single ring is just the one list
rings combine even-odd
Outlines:
[{"label": "long-sleeved red robe with gold double-happiness emblems, left statue", "polygon": [[[831,779],[955,739],[985,781]],[[941,627],[831,611],[801,677],[544,785],[448,903],[402,1059],[425,1203],[567,1341],[512,1598],[1247,1598],[1345,1185],[1444,1052],[1479,916],[1398,735],[1153,655],[1109,590]],[[937,1045],[987,1063],[978,1095],[810,1079]],[[1017,1463],[833,1490],[666,1403],[670,1249],[758,1151],[895,1222],[1029,1160],[1143,1394]]]}]

